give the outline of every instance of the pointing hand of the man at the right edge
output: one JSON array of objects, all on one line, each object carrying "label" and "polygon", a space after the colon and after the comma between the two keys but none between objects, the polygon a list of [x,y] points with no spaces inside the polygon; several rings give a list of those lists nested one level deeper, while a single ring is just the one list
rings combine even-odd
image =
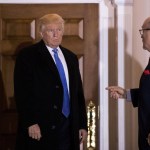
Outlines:
[{"label": "pointing hand of the man at the right edge", "polygon": [[119,86],[109,86],[106,88],[109,91],[110,97],[113,99],[126,98],[126,90]]}]

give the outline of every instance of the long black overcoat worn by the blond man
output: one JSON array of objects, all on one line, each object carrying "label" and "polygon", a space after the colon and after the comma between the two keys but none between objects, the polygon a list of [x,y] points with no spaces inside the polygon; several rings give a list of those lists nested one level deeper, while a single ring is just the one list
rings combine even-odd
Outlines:
[{"label": "long black overcoat worn by the blond man", "polygon": [[[79,150],[79,129],[87,130],[87,118],[78,59],[71,51],[60,48],[69,73],[72,150]],[[43,41],[24,48],[18,54],[14,90],[19,114],[18,139],[22,139],[19,145],[25,147],[30,139],[27,128],[33,124],[39,124],[43,137],[48,134],[54,136],[60,128],[63,88],[56,65]]]}]

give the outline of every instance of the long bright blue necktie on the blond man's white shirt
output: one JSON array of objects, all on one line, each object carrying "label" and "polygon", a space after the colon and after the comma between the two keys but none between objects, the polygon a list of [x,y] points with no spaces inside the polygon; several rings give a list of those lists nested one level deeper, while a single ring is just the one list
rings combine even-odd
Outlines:
[{"label": "long bright blue necktie on the blond man's white shirt", "polygon": [[68,94],[68,87],[67,87],[67,81],[66,81],[66,76],[64,72],[64,68],[62,65],[61,60],[58,57],[58,49],[53,49],[54,52],[54,59],[56,62],[56,66],[61,78],[61,82],[63,85],[63,107],[62,107],[62,113],[64,116],[68,117],[70,114],[70,104],[69,104],[69,94]]}]

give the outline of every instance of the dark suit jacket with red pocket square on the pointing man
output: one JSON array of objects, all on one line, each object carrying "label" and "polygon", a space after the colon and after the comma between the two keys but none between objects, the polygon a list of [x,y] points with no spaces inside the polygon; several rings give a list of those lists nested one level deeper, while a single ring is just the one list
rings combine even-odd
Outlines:
[{"label": "dark suit jacket with red pocket square on the pointing man", "polygon": [[145,68],[138,89],[131,89],[134,107],[138,107],[139,150],[150,150],[147,137],[150,133],[150,61]]}]

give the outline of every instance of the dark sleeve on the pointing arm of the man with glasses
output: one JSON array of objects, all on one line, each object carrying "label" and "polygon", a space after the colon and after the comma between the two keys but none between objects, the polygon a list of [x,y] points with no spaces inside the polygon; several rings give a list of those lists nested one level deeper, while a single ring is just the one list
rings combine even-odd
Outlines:
[{"label": "dark sleeve on the pointing arm of the man with glasses", "polygon": [[138,102],[139,102],[139,89],[130,89],[131,92],[131,99],[132,99],[132,104],[134,107],[138,107]]}]

